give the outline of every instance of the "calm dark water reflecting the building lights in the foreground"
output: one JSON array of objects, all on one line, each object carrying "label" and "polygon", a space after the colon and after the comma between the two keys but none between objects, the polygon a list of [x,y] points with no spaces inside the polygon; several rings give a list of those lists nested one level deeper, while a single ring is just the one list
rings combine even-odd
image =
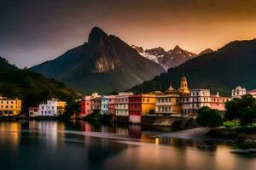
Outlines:
[{"label": "calm dark water reflecting the building lights in the foreground", "polygon": [[255,156],[230,153],[237,145],[200,150],[202,141],[154,144],[140,126],[87,122],[0,122],[1,169],[256,169]]}]

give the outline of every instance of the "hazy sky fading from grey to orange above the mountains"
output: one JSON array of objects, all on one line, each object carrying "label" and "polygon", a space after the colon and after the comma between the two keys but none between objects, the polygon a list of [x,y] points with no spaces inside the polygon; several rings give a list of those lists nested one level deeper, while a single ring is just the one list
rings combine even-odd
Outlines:
[{"label": "hazy sky fading from grey to orange above the mountains", "polygon": [[130,45],[200,53],[256,37],[255,0],[0,0],[0,56],[20,68],[87,42],[99,26]]}]

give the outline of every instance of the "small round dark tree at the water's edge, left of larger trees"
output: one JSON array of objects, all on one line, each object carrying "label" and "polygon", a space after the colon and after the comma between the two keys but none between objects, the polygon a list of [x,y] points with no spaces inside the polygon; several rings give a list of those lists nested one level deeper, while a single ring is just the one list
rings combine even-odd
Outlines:
[{"label": "small round dark tree at the water's edge, left of larger trees", "polygon": [[208,106],[204,106],[198,110],[196,121],[203,127],[218,127],[222,125],[222,118],[218,114],[218,111]]}]

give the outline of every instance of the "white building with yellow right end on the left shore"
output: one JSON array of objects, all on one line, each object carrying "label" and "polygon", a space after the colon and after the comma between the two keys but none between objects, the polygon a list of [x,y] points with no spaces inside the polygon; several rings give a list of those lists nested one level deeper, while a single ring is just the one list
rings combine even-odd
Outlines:
[{"label": "white building with yellow right end on the left shore", "polygon": [[59,116],[64,113],[65,101],[59,99],[48,99],[46,103],[39,105],[38,116]]}]

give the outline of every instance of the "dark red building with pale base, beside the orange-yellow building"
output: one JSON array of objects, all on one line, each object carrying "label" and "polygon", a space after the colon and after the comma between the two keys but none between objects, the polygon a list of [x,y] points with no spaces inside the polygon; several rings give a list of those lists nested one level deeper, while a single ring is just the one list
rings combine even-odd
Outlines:
[{"label": "dark red building with pale base, beside the orange-yellow building", "polygon": [[129,122],[141,122],[142,115],[142,95],[129,96]]}]

